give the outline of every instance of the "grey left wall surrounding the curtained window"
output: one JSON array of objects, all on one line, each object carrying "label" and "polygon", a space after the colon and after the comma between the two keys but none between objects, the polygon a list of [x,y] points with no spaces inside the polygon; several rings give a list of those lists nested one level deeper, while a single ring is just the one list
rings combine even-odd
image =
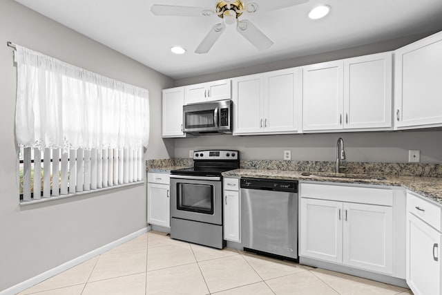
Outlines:
[{"label": "grey left wall surrounding the curtained window", "polygon": [[0,1],[0,291],[146,227],[146,189],[92,193],[19,206],[15,91],[17,68],[6,41],[95,73],[147,88],[151,140],[146,158],[173,156],[161,138],[161,90],[173,80],[12,0]]}]

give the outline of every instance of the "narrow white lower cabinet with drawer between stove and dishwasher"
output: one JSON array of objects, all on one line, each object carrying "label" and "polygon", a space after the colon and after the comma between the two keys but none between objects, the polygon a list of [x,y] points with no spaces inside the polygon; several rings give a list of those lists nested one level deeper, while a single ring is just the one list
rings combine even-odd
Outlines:
[{"label": "narrow white lower cabinet with drawer between stove and dishwasher", "polygon": [[224,178],[224,240],[240,242],[240,191],[238,178]]}]

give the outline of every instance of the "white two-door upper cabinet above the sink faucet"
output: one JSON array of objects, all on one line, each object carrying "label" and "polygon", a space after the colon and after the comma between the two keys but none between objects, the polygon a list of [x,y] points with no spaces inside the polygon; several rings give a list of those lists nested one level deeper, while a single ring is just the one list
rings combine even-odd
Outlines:
[{"label": "white two-door upper cabinet above the sink faucet", "polygon": [[392,127],[392,53],[305,66],[303,75],[303,131]]}]

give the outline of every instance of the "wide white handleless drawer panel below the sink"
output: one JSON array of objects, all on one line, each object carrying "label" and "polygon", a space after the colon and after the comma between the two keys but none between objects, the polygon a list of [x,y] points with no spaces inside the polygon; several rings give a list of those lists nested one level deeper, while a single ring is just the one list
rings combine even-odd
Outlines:
[{"label": "wide white handleless drawer panel below the sink", "polygon": [[393,191],[391,189],[302,183],[300,196],[302,198],[393,206]]}]

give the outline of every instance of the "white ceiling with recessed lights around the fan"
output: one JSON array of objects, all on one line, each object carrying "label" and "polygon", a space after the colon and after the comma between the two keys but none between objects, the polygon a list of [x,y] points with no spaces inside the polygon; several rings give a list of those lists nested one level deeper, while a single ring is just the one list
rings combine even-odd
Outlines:
[{"label": "white ceiling with recessed lights around the fan", "polygon": [[[16,1],[174,79],[442,30],[441,0],[310,0],[241,17],[274,41],[268,50],[256,50],[228,27],[209,53],[198,55],[193,51],[218,17],[157,17],[150,8],[154,3],[214,8],[216,0]],[[254,0],[265,1],[278,0]],[[332,11],[313,21],[308,12],[319,4]],[[174,55],[169,48],[175,45],[187,52]]]}]

